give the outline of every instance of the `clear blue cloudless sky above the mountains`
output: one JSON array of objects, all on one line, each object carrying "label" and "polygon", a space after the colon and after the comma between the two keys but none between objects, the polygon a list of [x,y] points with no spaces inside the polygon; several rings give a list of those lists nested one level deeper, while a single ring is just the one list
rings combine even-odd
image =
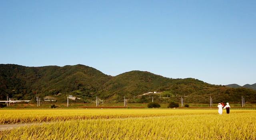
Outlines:
[{"label": "clear blue cloudless sky above the mountains", "polygon": [[255,0],[1,0],[0,64],[256,83]]}]

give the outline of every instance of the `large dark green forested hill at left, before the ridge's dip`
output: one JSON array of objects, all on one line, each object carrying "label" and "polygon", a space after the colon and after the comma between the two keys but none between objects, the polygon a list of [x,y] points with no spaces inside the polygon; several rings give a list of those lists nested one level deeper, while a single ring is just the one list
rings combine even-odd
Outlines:
[{"label": "large dark green forested hill at left, before the ridge's dip", "polygon": [[0,64],[0,98],[7,95],[16,99],[32,99],[35,95],[46,96],[80,91],[94,95],[112,76],[88,66],[26,67]]}]

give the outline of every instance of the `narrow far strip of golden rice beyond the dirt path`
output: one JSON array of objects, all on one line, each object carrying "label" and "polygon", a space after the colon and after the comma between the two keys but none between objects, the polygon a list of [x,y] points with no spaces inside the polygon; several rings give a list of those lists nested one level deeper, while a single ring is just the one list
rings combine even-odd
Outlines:
[{"label": "narrow far strip of golden rice beyond the dirt path", "polygon": [[[164,117],[185,114],[216,114],[216,110],[180,109],[31,109],[0,110],[0,124],[87,120],[120,119],[134,117]],[[241,111],[234,110],[240,113]],[[243,111],[242,111],[243,112]]]}]

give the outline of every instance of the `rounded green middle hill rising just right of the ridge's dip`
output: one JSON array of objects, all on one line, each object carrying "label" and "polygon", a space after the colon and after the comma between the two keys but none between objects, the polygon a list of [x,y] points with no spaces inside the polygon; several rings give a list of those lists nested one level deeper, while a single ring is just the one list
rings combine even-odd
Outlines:
[{"label": "rounded green middle hill rising just right of the ridge's dip", "polygon": [[171,78],[134,70],[114,76],[104,84],[100,93],[111,100],[122,99],[124,95],[132,98],[149,91],[164,91],[172,81]]}]

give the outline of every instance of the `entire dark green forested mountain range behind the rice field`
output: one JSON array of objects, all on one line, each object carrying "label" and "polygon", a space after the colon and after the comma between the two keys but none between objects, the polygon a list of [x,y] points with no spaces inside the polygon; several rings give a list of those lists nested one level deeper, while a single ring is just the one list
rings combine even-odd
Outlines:
[{"label": "entire dark green forested mountain range behind the rice field", "polygon": [[7,96],[20,100],[35,99],[36,95],[56,98],[61,95],[65,101],[67,95],[74,95],[81,101],[95,100],[98,96],[106,102],[122,102],[126,96],[130,102],[148,102],[148,97],[138,95],[149,91],[172,97],[164,99],[155,94],[154,99],[159,102],[179,101],[181,96],[188,103],[208,103],[210,96],[213,102],[238,102],[241,96],[248,102],[256,101],[256,90],[212,85],[193,78],[172,79],[137,70],[109,76],[81,64],[63,67],[0,64],[0,100]]}]

